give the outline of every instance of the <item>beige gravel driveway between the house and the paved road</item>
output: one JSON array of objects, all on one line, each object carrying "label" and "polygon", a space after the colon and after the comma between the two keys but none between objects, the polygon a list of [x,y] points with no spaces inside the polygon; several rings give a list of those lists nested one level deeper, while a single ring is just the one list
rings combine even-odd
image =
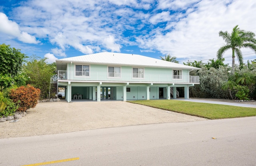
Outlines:
[{"label": "beige gravel driveway between the house and the paved road", "polygon": [[0,123],[0,139],[68,133],[106,127],[207,120],[122,101],[47,102],[29,109],[18,122]]}]

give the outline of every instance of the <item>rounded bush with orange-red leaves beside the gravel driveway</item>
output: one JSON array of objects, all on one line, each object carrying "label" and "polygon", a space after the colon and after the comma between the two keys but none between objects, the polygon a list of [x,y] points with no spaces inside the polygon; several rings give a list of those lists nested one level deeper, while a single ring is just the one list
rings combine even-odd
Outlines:
[{"label": "rounded bush with orange-red leaves beside the gravel driveway", "polygon": [[28,84],[27,86],[20,86],[11,89],[9,92],[10,99],[19,106],[17,111],[26,111],[29,108],[36,107],[40,97],[40,89]]}]

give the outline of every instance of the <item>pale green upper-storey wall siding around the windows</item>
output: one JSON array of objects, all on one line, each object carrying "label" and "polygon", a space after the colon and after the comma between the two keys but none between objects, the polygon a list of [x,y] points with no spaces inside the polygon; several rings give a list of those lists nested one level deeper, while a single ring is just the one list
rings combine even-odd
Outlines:
[{"label": "pale green upper-storey wall siding around the windows", "polygon": [[[76,65],[88,65],[90,66],[89,76],[76,76]],[[108,67],[115,66],[120,67],[120,77],[108,77]],[[143,68],[138,66],[118,66],[118,65],[100,65],[100,64],[87,64],[87,63],[75,63],[67,64],[68,80],[101,80],[101,81],[134,81],[134,82],[189,82],[189,70],[182,70],[182,79],[175,80],[172,77],[172,69],[170,68],[144,68],[143,78],[133,78],[132,68]]]}]

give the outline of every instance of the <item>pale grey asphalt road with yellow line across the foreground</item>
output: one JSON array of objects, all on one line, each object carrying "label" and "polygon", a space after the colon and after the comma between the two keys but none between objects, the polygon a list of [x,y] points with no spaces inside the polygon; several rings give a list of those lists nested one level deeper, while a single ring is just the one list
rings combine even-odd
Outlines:
[{"label": "pale grey asphalt road with yellow line across the foreground", "polygon": [[48,166],[255,166],[256,117],[0,139],[0,166],[46,162]]}]

